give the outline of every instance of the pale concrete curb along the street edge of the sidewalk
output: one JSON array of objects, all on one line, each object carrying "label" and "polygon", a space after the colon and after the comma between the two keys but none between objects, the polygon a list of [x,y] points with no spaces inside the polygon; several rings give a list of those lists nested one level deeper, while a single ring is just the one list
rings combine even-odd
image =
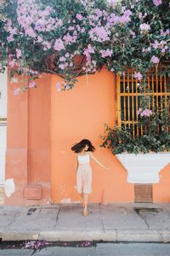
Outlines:
[{"label": "pale concrete curb along the street edge of the sidewalk", "polygon": [[170,242],[170,230],[30,231],[2,232],[2,241],[134,241]]}]

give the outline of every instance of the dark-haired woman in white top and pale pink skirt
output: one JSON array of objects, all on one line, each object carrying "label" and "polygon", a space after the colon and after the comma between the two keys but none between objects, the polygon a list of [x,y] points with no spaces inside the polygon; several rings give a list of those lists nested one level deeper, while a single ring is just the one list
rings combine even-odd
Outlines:
[{"label": "dark-haired woman in white top and pale pink skirt", "polygon": [[88,195],[92,192],[92,168],[89,165],[90,159],[94,160],[105,170],[108,170],[108,167],[104,166],[94,157],[92,152],[94,152],[95,148],[87,139],[76,143],[71,150],[77,153],[77,192],[81,195],[82,206],[84,207],[83,216],[86,217],[88,216]]}]

